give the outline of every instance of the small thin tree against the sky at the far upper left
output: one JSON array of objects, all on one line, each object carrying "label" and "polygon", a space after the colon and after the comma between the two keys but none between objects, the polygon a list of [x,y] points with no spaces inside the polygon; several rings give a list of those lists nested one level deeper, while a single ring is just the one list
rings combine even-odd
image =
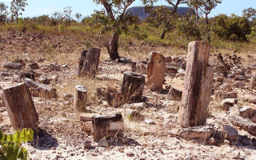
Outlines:
[{"label": "small thin tree against the sky at the far upper left", "polygon": [[10,3],[10,12],[15,17],[16,24],[18,24],[18,15],[22,15],[25,6],[27,6],[26,0],[13,0]]}]

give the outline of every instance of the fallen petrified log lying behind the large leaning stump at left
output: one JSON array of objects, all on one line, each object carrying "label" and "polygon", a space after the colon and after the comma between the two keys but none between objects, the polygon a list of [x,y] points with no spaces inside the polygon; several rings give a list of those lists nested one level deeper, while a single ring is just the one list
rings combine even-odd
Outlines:
[{"label": "fallen petrified log lying behind the large leaning stump at left", "polygon": [[26,86],[30,88],[31,94],[34,97],[40,98],[58,98],[57,90],[54,87],[47,86],[38,82],[34,82],[29,78],[25,78]]}]

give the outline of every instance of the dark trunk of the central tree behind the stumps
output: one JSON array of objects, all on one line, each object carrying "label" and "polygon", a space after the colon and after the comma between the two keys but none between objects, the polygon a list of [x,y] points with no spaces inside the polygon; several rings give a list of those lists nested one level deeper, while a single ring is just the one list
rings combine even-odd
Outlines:
[{"label": "dark trunk of the central tree behind the stumps", "polygon": [[110,39],[110,44],[108,46],[108,53],[110,54],[111,60],[120,58],[118,54],[118,38],[119,38],[119,34],[117,30],[114,30],[112,38]]}]

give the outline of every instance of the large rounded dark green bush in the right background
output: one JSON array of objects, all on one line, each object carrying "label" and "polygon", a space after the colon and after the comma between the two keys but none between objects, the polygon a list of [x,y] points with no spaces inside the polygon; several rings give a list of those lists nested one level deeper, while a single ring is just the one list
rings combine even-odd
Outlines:
[{"label": "large rounded dark green bush in the right background", "polygon": [[219,14],[214,19],[214,33],[219,38],[232,41],[247,41],[247,34],[250,34],[250,22],[245,17],[239,17],[232,14],[230,17],[226,14]]}]

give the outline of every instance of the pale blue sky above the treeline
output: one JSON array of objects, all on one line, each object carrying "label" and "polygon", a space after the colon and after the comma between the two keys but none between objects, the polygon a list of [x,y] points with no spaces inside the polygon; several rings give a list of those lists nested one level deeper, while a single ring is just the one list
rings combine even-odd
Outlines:
[{"label": "pale blue sky above the treeline", "polygon": [[[11,0],[0,0],[10,6]],[[28,0],[28,6],[22,17],[34,17],[42,14],[53,14],[55,11],[62,11],[64,7],[71,6],[73,14],[81,13],[83,16],[90,15],[94,10],[99,10],[102,6],[96,6],[93,0]],[[158,0],[156,5],[167,5],[165,0]],[[142,6],[139,0],[136,0],[133,6]],[[248,7],[256,9],[255,0],[222,0],[210,14],[237,14],[242,15],[242,10]]]}]

